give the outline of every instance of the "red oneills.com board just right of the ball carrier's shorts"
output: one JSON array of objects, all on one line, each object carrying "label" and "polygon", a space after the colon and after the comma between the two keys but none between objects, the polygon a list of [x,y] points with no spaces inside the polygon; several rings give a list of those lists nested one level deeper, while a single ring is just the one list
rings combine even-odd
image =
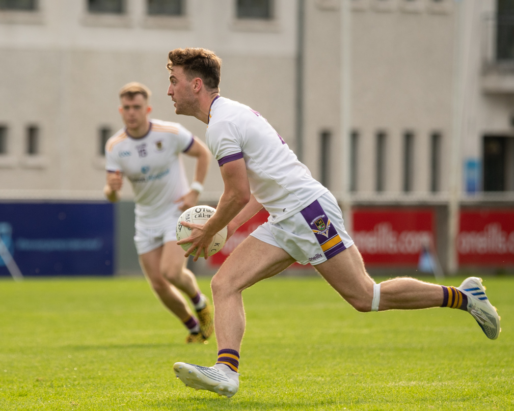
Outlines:
[{"label": "red oneills.com board just right of the ball carrier's shorts", "polygon": [[367,265],[416,267],[423,247],[434,247],[434,211],[356,209],[352,237]]}]

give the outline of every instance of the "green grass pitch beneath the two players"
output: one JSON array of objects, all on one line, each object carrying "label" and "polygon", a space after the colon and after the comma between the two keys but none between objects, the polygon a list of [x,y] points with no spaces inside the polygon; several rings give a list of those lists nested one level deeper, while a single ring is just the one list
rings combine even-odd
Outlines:
[{"label": "green grass pitch beneath the two players", "polygon": [[461,310],[359,313],[319,277],[261,282],[243,294],[241,387],[227,399],[175,379],[174,362],[212,365],[216,344],[184,344],[143,278],[4,278],[0,410],[512,410],[514,278],[484,285],[496,341]]}]

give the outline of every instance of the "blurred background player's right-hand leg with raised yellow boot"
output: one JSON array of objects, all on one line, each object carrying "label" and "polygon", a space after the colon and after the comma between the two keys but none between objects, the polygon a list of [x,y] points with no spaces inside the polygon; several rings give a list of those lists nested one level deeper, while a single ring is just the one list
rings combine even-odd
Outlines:
[{"label": "blurred background player's right-hand leg with raised yellow boot", "polygon": [[[196,277],[186,264],[184,250],[177,245],[176,239],[166,242],[162,252],[160,271],[171,284],[189,296],[196,310],[200,336],[208,339],[214,330],[212,307],[207,296],[201,293]],[[188,340],[191,340],[188,342],[196,342],[200,336],[192,334],[188,337]]]}]

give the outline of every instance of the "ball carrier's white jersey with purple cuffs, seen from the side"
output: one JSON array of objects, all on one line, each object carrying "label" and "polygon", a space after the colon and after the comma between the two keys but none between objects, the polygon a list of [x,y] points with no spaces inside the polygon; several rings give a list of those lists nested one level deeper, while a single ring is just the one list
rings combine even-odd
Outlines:
[{"label": "ball carrier's white jersey with purple cuffs, seen from the side", "polygon": [[218,164],[244,158],[250,191],[281,221],[328,192],[257,111],[223,97],[211,104],[207,145]]}]

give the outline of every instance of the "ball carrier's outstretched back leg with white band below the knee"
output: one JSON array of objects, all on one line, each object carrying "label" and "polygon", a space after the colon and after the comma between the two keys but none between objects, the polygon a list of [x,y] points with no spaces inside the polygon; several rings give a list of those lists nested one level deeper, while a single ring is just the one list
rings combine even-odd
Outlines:
[{"label": "ball carrier's outstretched back leg with white band below the knee", "polygon": [[[460,308],[473,315],[488,338],[497,338],[500,332],[500,317],[483,293],[480,279],[471,281],[470,278],[475,277],[466,279],[458,288],[405,277],[375,284],[366,272],[355,245],[315,268],[358,311]],[[473,295],[473,290],[476,295]]]}]

